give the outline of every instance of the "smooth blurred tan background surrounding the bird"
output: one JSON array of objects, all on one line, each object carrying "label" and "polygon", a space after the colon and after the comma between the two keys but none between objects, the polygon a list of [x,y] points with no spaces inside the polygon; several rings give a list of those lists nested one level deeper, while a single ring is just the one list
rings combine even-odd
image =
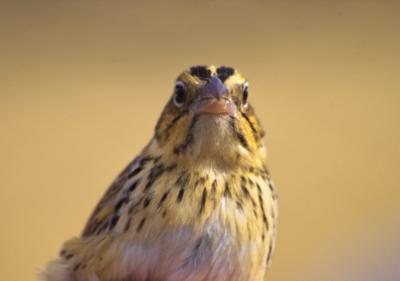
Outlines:
[{"label": "smooth blurred tan background surrounding the bird", "polygon": [[269,280],[399,280],[399,30],[398,1],[2,1],[0,280],[80,233],[204,63],[248,77],[268,132]]}]

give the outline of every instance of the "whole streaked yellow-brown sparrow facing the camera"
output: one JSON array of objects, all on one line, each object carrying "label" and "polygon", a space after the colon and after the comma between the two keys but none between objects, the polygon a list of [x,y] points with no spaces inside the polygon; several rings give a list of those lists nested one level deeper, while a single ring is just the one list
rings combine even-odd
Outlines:
[{"label": "whole streaked yellow-brown sparrow facing the camera", "polygon": [[176,78],[151,140],[41,279],[266,280],[276,225],[247,79],[230,66],[195,65]]}]

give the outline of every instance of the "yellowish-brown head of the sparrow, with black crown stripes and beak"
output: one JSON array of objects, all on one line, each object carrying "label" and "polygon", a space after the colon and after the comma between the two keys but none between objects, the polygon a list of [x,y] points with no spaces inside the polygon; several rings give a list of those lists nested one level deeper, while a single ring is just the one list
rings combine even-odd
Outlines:
[{"label": "yellowish-brown head of the sparrow, with black crown stripes and beak", "polygon": [[257,153],[264,132],[248,95],[246,79],[231,67],[195,66],[184,71],[158,121],[158,144],[176,156],[196,160]]}]

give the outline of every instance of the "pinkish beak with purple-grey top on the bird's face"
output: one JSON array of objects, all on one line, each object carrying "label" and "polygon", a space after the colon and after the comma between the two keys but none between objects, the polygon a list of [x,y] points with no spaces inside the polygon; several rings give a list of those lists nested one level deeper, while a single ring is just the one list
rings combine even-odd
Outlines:
[{"label": "pinkish beak with purple-grey top on the bird's face", "polygon": [[200,89],[197,100],[191,111],[194,114],[222,114],[234,116],[237,112],[235,103],[230,97],[229,90],[218,77],[212,77]]}]

